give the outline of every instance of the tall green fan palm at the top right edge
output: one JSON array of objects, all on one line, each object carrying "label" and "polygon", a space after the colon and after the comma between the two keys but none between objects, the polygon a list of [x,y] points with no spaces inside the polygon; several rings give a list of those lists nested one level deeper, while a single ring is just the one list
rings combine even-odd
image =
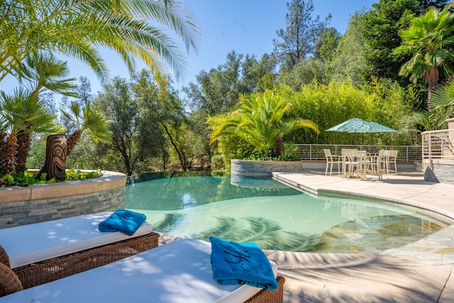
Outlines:
[{"label": "tall green fan palm at the top right edge", "polygon": [[431,107],[433,89],[440,73],[449,77],[454,62],[454,15],[449,6],[443,10],[431,6],[426,13],[411,19],[408,29],[401,31],[402,45],[394,54],[411,55],[402,65],[399,75],[409,76],[413,82],[422,79],[428,84],[427,107]]}]

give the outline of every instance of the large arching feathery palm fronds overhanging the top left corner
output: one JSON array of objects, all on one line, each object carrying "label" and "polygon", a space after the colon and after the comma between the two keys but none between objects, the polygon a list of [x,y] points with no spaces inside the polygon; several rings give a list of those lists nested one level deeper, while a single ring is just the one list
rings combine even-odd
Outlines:
[{"label": "large arching feathery palm fronds overhanging the top left corner", "polygon": [[187,52],[197,53],[196,18],[172,0],[0,1],[0,81],[28,55],[44,51],[86,63],[105,82],[109,72],[100,47],[114,50],[131,72],[139,59],[160,79],[166,62],[178,78],[186,67],[184,54],[157,24],[174,31]]}]

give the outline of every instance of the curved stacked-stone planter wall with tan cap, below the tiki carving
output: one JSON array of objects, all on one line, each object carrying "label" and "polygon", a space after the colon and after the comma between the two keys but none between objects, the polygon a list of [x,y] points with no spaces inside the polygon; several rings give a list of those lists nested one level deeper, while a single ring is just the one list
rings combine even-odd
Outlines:
[{"label": "curved stacked-stone planter wall with tan cap, below the tiki carving", "polygon": [[1,187],[0,228],[124,208],[126,175],[103,173],[83,181]]}]

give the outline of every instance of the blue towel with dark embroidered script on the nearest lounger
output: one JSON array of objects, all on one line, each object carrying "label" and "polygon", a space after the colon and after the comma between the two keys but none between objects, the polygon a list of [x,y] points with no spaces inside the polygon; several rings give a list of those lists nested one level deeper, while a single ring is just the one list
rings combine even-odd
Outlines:
[{"label": "blue towel with dark embroidered script on the nearest lounger", "polygon": [[247,284],[267,290],[278,285],[270,261],[255,243],[210,237],[213,279],[219,284]]}]

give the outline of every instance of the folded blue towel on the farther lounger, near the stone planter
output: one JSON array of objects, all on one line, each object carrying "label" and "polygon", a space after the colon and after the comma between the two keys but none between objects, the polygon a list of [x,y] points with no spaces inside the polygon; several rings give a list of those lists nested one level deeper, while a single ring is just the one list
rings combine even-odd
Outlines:
[{"label": "folded blue towel on the farther lounger, near the stone planter", "polygon": [[126,209],[117,209],[109,218],[98,225],[99,231],[120,231],[133,236],[135,231],[145,222],[147,217]]}]

